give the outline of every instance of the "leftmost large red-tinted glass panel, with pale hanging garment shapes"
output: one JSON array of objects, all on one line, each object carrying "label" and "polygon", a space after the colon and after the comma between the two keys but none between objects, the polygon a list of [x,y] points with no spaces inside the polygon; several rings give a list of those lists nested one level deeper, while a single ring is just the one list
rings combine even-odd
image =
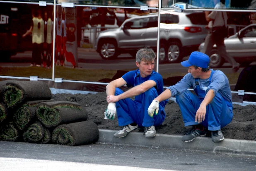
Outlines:
[{"label": "leftmost large red-tinted glass panel, with pale hanging garment shapes", "polygon": [[0,75],[51,78],[53,5],[0,5]]}]

